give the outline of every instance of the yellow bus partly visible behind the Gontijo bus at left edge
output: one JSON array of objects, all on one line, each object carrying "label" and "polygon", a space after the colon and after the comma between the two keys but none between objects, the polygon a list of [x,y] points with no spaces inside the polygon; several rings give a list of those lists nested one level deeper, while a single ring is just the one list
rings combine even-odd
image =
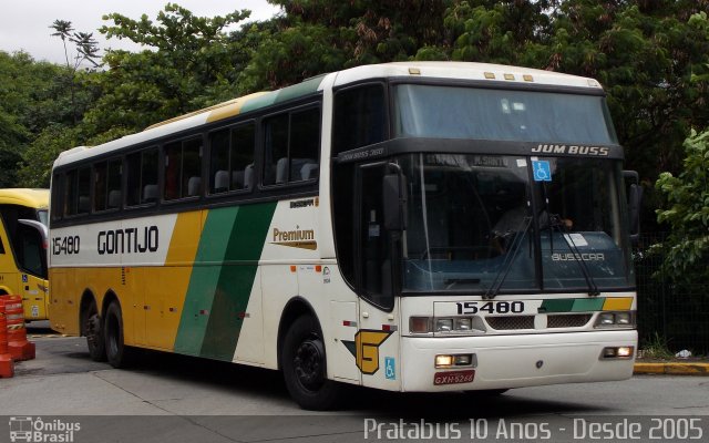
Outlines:
[{"label": "yellow bus partly visible behind the Gontijo bus at left edge", "polygon": [[0,189],[0,296],[22,296],[27,321],[49,318],[49,189]]}]

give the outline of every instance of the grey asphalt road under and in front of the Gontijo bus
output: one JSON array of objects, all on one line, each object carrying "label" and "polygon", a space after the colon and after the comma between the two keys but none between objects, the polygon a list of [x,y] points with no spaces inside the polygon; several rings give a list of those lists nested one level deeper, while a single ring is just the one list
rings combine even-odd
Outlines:
[{"label": "grey asphalt road under and in front of the Gontijo bus", "polygon": [[79,425],[74,442],[709,439],[709,378],[702,377],[643,375],[497,398],[351,389],[341,410],[315,413],[289,399],[274,371],[157,352],[114,370],[91,361],[84,339],[52,336],[42,324],[29,333],[37,359],[0,380],[0,415],[16,418],[6,421],[8,431],[0,421],[0,442],[18,416],[54,420],[43,432],[66,439],[71,423]]}]

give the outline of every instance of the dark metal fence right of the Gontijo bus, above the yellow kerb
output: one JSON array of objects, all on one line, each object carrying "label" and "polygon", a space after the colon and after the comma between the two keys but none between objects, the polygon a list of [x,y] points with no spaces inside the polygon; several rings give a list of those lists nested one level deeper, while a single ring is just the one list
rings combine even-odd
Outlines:
[{"label": "dark metal fence right of the Gontijo bus, above the yellow kerb", "polygon": [[709,285],[672,285],[662,276],[665,257],[649,247],[666,237],[645,234],[634,251],[640,349],[667,344],[672,352],[709,354]]}]

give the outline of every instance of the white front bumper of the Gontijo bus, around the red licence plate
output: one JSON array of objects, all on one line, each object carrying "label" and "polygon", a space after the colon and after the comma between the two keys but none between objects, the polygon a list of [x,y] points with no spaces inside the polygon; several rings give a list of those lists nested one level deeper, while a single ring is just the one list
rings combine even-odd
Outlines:
[{"label": "white front bumper of the Gontijo bus, around the red licence plate", "polygon": [[[469,391],[626,380],[633,375],[637,337],[635,330],[402,337],[401,390]],[[633,356],[604,358],[606,348],[617,347],[633,347]],[[473,362],[469,367],[436,369],[436,356],[446,354],[472,354]]]}]

